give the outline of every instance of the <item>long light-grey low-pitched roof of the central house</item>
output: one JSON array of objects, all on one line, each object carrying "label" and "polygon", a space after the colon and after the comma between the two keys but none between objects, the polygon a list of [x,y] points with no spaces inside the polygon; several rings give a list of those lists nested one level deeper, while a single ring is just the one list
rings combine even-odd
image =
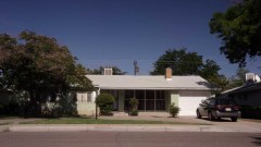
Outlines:
[{"label": "long light-grey low-pitched roof of the central house", "polygon": [[194,89],[215,90],[200,76],[164,76],[153,75],[86,75],[96,87],[101,89]]}]

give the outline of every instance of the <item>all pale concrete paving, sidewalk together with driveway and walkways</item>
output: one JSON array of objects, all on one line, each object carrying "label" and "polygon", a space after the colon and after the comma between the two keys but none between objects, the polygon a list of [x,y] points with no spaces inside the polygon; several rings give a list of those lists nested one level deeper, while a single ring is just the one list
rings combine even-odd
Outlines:
[{"label": "all pale concrete paving, sidewalk together with driveway and walkways", "polygon": [[261,123],[239,120],[231,122],[228,120],[212,122],[207,119],[196,119],[195,117],[170,118],[167,115],[144,114],[139,117],[99,117],[99,119],[113,120],[153,120],[172,121],[184,123],[201,123],[206,125],[188,124],[18,124],[20,122],[35,121],[37,119],[4,119],[0,124],[12,122],[11,124],[0,125],[0,132],[248,132],[261,133]]}]

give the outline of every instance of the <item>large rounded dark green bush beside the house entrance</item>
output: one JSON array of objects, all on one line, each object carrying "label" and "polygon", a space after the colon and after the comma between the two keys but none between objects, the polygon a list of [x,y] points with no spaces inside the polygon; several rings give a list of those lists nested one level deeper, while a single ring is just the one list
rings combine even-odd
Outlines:
[{"label": "large rounded dark green bush beside the house entrance", "polygon": [[96,99],[96,105],[100,108],[101,115],[112,115],[112,105],[114,97],[110,94],[101,94]]}]

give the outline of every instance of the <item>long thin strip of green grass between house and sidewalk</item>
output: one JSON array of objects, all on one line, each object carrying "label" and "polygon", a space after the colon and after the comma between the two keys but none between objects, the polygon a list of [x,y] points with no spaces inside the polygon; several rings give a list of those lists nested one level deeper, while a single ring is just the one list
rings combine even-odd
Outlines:
[{"label": "long thin strip of green grass between house and sidewalk", "polygon": [[187,124],[187,125],[210,125],[207,123],[183,123],[166,121],[145,121],[145,120],[102,120],[102,119],[80,119],[80,118],[62,118],[46,119],[30,122],[21,122],[20,124]]}]

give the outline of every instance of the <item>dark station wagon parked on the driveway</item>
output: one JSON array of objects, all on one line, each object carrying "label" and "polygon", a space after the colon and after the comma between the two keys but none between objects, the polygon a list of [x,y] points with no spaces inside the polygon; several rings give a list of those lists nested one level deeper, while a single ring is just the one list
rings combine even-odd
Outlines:
[{"label": "dark station wagon parked on the driveway", "polygon": [[238,105],[228,98],[208,98],[202,100],[196,112],[198,119],[208,117],[211,121],[231,118],[233,122],[236,122],[241,117]]}]

